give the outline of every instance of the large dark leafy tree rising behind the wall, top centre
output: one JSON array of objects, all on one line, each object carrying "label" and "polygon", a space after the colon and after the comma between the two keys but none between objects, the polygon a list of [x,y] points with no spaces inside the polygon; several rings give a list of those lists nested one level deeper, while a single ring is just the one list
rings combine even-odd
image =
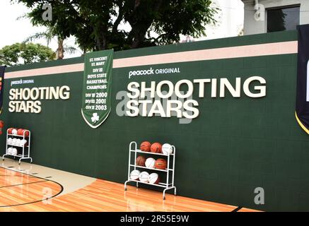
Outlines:
[{"label": "large dark leafy tree rising behind the wall, top centre", "polygon": [[[179,42],[180,34],[200,37],[205,35],[205,25],[215,23],[216,13],[211,0],[15,1],[31,9],[34,25],[54,27],[63,40],[74,35],[84,52],[170,44]],[[45,3],[52,5],[52,21],[42,19]],[[120,29],[122,23],[132,30]]]}]

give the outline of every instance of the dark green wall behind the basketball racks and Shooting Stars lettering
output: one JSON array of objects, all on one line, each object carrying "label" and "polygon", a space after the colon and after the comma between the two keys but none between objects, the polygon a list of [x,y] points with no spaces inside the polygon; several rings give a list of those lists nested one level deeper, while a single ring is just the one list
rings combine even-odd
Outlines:
[{"label": "dark green wall behind the basketball racks and Shooting Stars lettering", "polygon": [[[296,40],[296,32],[233,37],[166,47],[115,52],[115,59],[196,49]],[[82,58],[52,61],[9,68],[20,71],[83,62]],[[309,140],[294,117],[297,55],[250,57],[152,66],[180,67],[180,74],[144,76],[129,80],[134,69],[114,69],[112,112],[98,129],[91,129],[81,116],[83,73],[35,76],[33,86],[69,85],[70,100],[42,100],[42,113],[8,113],[6,79],[4,113],[8,127],[22,127],[33,133],[32,157],[35,164],[124,183],[130,141],[159,141],[177,148],[175,185],[181,196],[228,203],[261,210],[309,210]],[[161,117],[119,117],[116,95],[127,90],[131,81],[195,78],[249,78],[267,80],[267,97],[233,98],[199,102],[200,115],[190,124]],[[14,88],[32,87],[19,85]],[[242,93],[243,94],[243,93]],[[1,136],[4,153],[5,137]],[[254,189],[265,191],[265,205],[254,203]]]}]

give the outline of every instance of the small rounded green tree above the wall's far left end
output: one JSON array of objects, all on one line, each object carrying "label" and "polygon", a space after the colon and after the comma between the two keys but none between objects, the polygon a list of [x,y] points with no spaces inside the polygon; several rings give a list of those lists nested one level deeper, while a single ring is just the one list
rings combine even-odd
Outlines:
[{"label": "small rounded green tree above the wall's far left end", "polygon": [[42,44],[16,43],[0,49],[0,65],[13,66],[54,59],[56,59],[54,51]]}]

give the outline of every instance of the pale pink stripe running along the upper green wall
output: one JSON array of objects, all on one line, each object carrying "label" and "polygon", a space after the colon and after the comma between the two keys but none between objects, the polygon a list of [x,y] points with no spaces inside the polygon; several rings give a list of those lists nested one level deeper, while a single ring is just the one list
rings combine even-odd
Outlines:
[{"label": "pale pink stripe running along the upper green wall", "polygon": [[[155,54],[144,57],[128,57],[114,59],[113,68],[125,68],[130,66],[146,66],[154,64],[173,64],[191,61],[207,61],[215,59],[233,59],[241,57],[261,57],[282,54],[296,54],[298,41],[274,42],[267,44],[252,44],[238,47],[223,47],[216,49],[202,49],[168,54]],[[64,66],[52,66],[42,69],[30,69],[5,73],[4,78],[23,78],[28,76],[45,76],[59,73],[71,73],[83,71],[84,64],[69,64]]]}]

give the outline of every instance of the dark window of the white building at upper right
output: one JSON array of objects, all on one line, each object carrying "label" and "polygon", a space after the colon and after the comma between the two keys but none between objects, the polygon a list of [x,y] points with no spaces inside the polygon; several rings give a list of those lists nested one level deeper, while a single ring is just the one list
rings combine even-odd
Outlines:
[{"label": "dark window of the white building at upper right", "polygon": [[267,32],[296,30],[300,7],[271,8],[267,10]]}]

